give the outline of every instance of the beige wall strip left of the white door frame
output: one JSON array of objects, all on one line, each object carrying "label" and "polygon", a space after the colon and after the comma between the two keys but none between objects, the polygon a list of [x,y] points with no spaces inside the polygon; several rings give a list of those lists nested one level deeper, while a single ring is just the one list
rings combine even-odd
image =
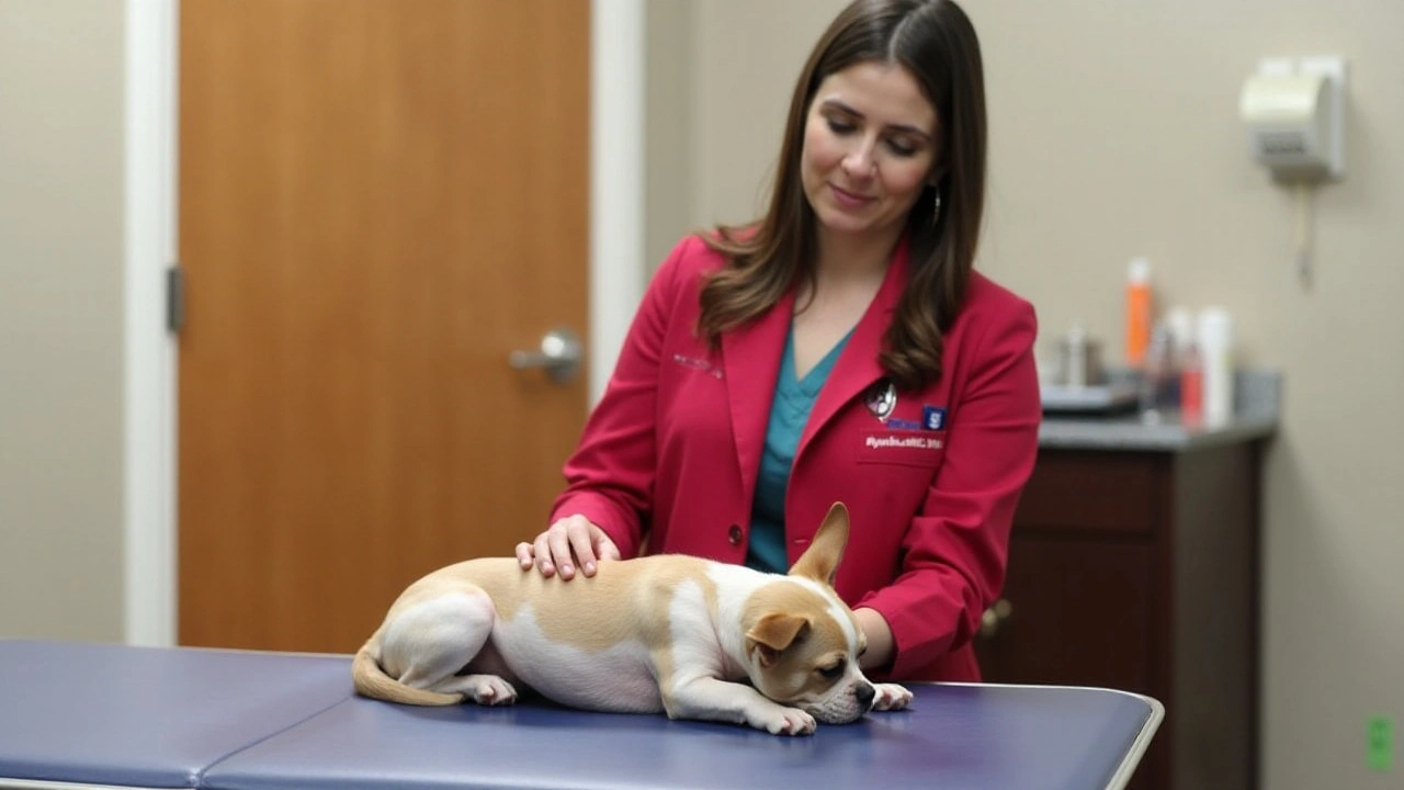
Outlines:
[{"label": "beige wall strip left of the white door frame", "polygon": [[0,0],[0,637],[122,638],[122,20]]}]

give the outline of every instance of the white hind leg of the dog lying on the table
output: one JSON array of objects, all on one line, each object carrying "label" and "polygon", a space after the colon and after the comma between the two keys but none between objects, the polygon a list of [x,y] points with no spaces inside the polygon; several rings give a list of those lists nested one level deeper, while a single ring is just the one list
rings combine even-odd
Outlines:
[{"label": "white hind leg of the dog lying on the table", "polygon": [[497,675],[459,675],[487,644],[497,611],[482,589],[441,592],[386,623],[382,666],[406,686],[510,704],[517,689]]}]

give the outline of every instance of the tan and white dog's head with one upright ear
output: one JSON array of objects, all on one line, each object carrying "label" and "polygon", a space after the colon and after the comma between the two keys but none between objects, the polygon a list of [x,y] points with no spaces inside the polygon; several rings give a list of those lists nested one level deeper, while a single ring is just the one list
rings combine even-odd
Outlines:
[{"label": "tan and white dog's head with one upright ear", "polygon": [[859,718],[875,696],[858,668],[862,628],[833,588],[847,543],[848,509],[835,502],[789,575],[751,593],[743,620],[751,685],[827,724]]}]

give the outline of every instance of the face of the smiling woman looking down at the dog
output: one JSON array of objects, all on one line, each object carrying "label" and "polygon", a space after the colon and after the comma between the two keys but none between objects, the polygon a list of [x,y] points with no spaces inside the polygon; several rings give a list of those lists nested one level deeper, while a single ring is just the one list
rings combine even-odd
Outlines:
[{"label": "face of the smiling woman looking down at the dog", "polygon": [[936,111],[906,67],[865,60],[820,83],[800,180],[823,229],[894,236],[936,166]]}]

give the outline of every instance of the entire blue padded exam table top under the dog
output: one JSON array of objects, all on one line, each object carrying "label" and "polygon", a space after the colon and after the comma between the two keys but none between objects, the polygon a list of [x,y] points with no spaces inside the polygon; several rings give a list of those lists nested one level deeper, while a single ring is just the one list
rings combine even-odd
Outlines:
[{"label": "entire blue padded exam table top under the dog", "polygon": [[1085,790],[1120,787],[1163,715],[1102,689],[935,683],[913,710],[789,738],[542,701],[397,706],[355,697],[350,662],[0,640],[0,784]]}]

